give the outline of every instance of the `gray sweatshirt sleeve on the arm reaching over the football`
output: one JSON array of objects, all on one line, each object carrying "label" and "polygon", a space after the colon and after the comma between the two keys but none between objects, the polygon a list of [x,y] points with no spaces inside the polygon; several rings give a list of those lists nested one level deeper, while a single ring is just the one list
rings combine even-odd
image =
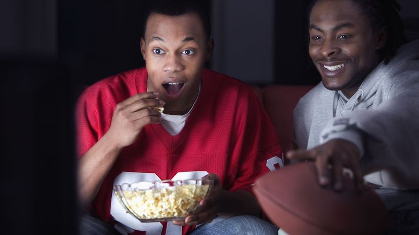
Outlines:
[{"label": "gray sweatshirt sleeve on the arm reaching over the football", "polygon": [[365,179],[393,189],[419,188],[419,73],[394,77],[387,100],[376,109],[332,119],[321,142],[347,139],[357,146]]}]

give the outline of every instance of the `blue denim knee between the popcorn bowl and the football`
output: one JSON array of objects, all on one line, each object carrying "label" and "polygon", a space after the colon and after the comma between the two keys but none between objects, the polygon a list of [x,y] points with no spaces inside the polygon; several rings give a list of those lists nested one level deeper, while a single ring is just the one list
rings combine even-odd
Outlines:
[{"label": "blue denim knee between the popcorn bowl and the football", "polygon": [[258,217],[240,215],[231,218],[217,217],[211,223],[203,224],[190,235],[277,235],[278,228]]}]

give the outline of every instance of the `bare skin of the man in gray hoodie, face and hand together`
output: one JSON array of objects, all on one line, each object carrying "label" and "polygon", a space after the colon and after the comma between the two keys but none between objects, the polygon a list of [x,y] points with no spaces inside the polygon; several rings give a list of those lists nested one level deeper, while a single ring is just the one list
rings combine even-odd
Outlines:
[{"label": "bare skin of the man in gray hoodie, face and hand together", "polygon": [[[386,44],[386,30],[374,29],[369,21],[351,0],[319,0],[314,5],[309,54],[327,89],[342,90],[351,98],[381,62],[378,50]],[[331,139],[310,150],[289,151],[286,157],[315,161],[321,186],[342,190],[344,168],[352,170],[358,189],[364,186],[360,151],[347,140]]]}]

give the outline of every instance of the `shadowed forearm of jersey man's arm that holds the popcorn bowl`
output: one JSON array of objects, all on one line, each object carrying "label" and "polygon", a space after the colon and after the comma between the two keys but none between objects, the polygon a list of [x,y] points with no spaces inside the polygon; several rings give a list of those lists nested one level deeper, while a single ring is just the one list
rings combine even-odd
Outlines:
[{"label": "shadowed forearm of jersey man's arm that holds the popcorn bowl", "polygon": [[244,190],[237,192],[222,191],[222,201],[218,215],[223,217],[236,215],[254,215],[259,217],[261,213],[262,209],[252,193]]}]

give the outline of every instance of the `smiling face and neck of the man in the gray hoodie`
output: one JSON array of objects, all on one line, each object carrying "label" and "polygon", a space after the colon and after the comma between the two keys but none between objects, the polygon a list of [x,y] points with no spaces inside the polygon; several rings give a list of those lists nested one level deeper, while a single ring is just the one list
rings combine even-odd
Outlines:
[{"label": "smiling face and neck of the man in the gray hoodie", "polygon": [[310,14],[310,57],[323,85],[347,98],[381,62],[378,50],[386,43],[385,29],[373,28],[359,12],[352,0],[319,0]]}]

